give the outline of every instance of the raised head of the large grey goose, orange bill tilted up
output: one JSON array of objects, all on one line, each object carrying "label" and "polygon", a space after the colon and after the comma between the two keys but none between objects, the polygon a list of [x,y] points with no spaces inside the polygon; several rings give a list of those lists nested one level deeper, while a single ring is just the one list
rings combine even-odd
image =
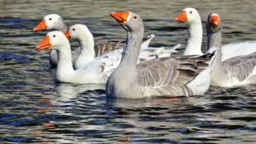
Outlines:
[{"label": "raised head of the large grey goose, orange bill tilted up", "polygon": [[115,18],[126,31],[144,31],[142,18],[138,14],[133,12],[111,12],[110,16]]}]

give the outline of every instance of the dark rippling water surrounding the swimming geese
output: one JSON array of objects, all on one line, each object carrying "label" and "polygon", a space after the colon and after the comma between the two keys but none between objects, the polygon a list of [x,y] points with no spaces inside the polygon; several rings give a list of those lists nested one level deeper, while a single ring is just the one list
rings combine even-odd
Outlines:
[{"label": "dark rippling water surrounding the swimming geese", "polygon": [[172,101],[107,99],[102,84],[54,84],[49,51],[35,50],[46,32],[32,29],[51,13],[68,26],[86,24],[98,41],[125,39],[109,16],[114,10],[140,14],[145,35],[158,35],[152,46],[184,48],[186,26],[173,20],[186,7],[198,9],[203,23],[210,12],[220,14],[225,44],[255,40],[251,0],[1,0],[0,143],[255,143],[253,85]]}]

